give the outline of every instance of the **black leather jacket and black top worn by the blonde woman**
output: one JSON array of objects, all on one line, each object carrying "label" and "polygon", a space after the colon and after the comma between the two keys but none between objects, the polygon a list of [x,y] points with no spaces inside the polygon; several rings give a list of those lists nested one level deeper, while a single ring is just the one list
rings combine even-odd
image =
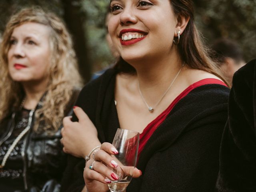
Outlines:
[{"label": "black leather jacket and black top worn by the blonde woman", "polygon": [[[78,92],[74,90],[64,112],[65,116],[72,113]],[[39,102],[36,110],[41,107],[42,102]],[[4,118],[0,124],[0,163],[16,137],[31,125],[12,150],[4,168],[0,168],[0,191],[44,192],[42,188],[47,181],[50,181],[48,184],[54,184],[56,189],[60,188],[59,183],[66,166],[66,154],[60,143],[62,126],[53,134],[38,133],[33,130],[34,118],[34,110],[22,108]],[[40,123],[39,126],[44,124]]]}]

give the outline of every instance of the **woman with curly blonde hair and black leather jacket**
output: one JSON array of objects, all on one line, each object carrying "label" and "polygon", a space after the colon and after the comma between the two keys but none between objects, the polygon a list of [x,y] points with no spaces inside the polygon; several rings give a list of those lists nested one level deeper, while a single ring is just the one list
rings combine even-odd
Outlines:
[{"label": "woman with curly blonde hair and black leather jacket", "polygon": [[10,18],[0,50],[0,189],[58,191],[62,118],[81,84],[70,35],[54,14],[25,8]]}]

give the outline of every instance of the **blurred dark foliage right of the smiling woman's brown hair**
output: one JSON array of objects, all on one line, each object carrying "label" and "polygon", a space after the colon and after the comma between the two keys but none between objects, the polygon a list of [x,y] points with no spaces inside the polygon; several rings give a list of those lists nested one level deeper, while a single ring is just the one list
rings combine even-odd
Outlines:
[{"label": "blurred dark foliage right of the smiling woman's brown hair", "polygon": [[212,44],[230,38],[240,44],[244,58],[256,58],[256,0],[194,0],[199,30]]}]

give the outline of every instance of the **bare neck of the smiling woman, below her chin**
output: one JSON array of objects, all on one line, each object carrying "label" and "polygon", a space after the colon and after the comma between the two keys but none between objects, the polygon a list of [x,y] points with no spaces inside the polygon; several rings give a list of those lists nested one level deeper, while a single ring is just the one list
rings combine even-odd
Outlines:
[{"label": "bare neck of the smiling woman, below her chin", "polygon": [[[139,95],[138,93],[141,92],[143,98],[149,104],[154,104],[168,90],[168,87],[182,68],[182,64],[182,61],[173,58],[133,63],[132,66],[136,69],[136,76],[130,76],[129,78],[124,75],[122,78],[124,79],[124,86],[134,94]],[[180,82],[183,71],[181,70],[175,82]],[[126,81],[126,79],[128,80]],[[140,98],[141,96],[138,97]]]}]

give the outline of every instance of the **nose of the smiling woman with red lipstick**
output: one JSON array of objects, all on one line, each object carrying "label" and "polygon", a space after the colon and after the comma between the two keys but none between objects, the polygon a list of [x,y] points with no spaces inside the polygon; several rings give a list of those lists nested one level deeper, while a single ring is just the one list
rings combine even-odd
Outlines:
[{"label": "nose of the smiling woman with red lipstick", "polygon": [[121,26],[126,26],[130,24],[137,23],[137,17],[134,14],[134,10],[131,7],[124,8],[120,14],[120,24]]}]

